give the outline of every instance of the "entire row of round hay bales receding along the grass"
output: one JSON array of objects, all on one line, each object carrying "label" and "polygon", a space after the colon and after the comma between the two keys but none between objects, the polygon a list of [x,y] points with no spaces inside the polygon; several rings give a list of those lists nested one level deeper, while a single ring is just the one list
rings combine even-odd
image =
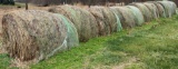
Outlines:
[{"label": "entire row of round hay bales receding along the grass", "polygon": [[13,11],[3,16],[3,47],[22,61],[42,60],[98,36],[141,26],[176,13],[171,1],[130,3],[125,7],[59,6],[40,10]]}]

